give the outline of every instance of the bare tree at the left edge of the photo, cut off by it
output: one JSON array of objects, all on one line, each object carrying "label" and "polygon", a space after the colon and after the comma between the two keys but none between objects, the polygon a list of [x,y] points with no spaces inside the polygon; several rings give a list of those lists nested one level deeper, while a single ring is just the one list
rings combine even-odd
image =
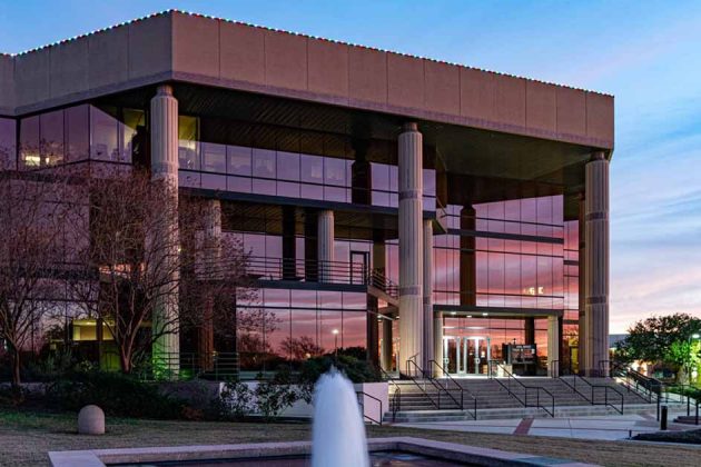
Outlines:
[{"label": "bare tree at the left edge of the photo, cut off by it", "polygon": [[0,339],[16,387],[21,354],[65,280],[67,187],[46,175],[0,171]]}]

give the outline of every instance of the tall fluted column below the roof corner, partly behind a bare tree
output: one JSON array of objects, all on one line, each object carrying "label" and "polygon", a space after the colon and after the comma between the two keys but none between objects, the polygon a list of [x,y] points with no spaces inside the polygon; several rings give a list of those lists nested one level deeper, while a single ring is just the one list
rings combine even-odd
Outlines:
[{"label": "tall fluted column below the roof corner, partly behind a bare tree", "polygon": [[[168,258],[178,255],[178,101],[172,97],[172,88],[168,85],[159,86],[157,95],[151,99],[151,177],[162,180],[166,189],[170,190],[168,209],[172,212],[172,225],[164,225],[160,241],[155,244],[167,246],[174,251],[162,250]],[[157,235],[154,232],[154,235]],[[170,236],[170,238],[162,238]],[[171,275],[170,281],[177,281],[178,270],[175,267],[164,267]],[[171,287],[168,285],[168,287]],[[178,292],[171,291],[164,296],[154,308],[152,329],[161,334],[152,346],[154,364],[158,369],[167,370],[171,376],[177,374],[180,352],[180,336],[177,330]]]}]

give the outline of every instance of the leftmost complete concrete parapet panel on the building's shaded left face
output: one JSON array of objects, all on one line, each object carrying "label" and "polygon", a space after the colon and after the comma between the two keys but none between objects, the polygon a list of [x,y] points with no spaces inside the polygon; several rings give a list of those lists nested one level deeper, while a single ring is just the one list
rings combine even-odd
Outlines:
[{"label": "leftmost complete concrete parapet panel on the building's shaded left face", "polygon": [[16,105],[23,106],[51,97],[49,83],[49,51],[39,50],[14,58],[14,81],[17,87]]}]

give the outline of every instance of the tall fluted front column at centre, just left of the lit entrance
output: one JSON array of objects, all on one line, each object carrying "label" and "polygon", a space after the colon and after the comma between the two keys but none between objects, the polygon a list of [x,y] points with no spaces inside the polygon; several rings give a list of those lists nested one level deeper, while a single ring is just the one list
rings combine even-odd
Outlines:
[{"label": "tall fluted front column at centre, just left of the lit entrance", "polygon": [[[424,360],[423,137],[416,123],[399,135],[399,371]],[[414,368],[411,368],[413,371]]]}]

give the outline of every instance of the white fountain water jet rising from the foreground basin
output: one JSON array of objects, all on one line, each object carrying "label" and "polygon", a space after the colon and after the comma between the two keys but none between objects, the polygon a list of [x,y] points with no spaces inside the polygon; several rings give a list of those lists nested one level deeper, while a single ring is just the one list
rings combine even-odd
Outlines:
[{"label": "white fountain water jet rising from the foreground basin", "polygon": [[335,368],[314,391],[312,467],[368,467],[365,425],[353,384]]}]

